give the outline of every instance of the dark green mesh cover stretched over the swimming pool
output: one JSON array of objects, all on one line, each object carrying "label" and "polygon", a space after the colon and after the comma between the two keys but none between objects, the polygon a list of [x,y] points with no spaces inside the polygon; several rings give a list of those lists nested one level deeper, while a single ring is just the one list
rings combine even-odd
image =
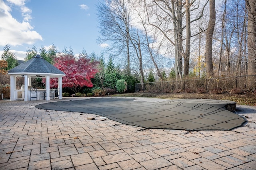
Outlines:
[{"label": "dark green mesh cover stretched over the swimming pool", "polygon": [[230,130],[246,120],[226,109],[235,102],[207,99],[140,102],[134,98],[88,98],[49,102],[36,107],[47,110],[93,113],[143,128],[180,130]]}]

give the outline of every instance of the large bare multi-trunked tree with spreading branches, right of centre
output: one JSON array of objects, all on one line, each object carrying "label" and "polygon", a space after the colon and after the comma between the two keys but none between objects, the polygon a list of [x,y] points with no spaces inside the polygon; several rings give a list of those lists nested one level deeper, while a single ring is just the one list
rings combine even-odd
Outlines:
[{"label": "large bare multi-trunked tree with spreading branches, right of centre", "polygon": [[[145,1],[146,2],[146,1]],[[190,38],[191,23],[199,20],[204,13],[208,1],[202,6],[200,1],[186,0],[153,0],[154,4],[148,2],[148,23],[158,29],[162,36],[168,41],[169,47],[174,47],[176,80],[182,80],[182,57],[184,57],[184,76],[188,76],[190,60]],[[197,4],[196,4],[197,3]],[[191,8],[193,6],[193,8]],[[202,6],[202,8],[200,8]],[[182,10],[183,8],[186,10]],[[196,11],[198,10],[199,11]],[[193,20],[190,20],[190,12],[196,11]],[[149,15],[150,14],[150,15]],[[198,15],[199,14],[199,15]],[[186,15],[186,25],[183,19]],[[183,49],[183,32],[186,29],[186,49]],[[170,55],[170,54],[169,54]]]}]

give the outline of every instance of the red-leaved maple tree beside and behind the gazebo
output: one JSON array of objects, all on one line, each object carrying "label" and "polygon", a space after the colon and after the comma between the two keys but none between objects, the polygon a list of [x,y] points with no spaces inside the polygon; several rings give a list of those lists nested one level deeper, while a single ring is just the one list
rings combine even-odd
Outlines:
[{"label": "red-leaved maple tree beside and behind the gazebo", "polygon": [[[62,78],[62,87],[69,88],[75,93],[84,86],[93,86],[91,78],[98,72],[97,64],[97,61],[90,61],[85,56],[76,59],[72,55],[61,55],[54,61],[54,66],[66,74]],[[58,87],[57,78],[50,78],[50,87]]]}]

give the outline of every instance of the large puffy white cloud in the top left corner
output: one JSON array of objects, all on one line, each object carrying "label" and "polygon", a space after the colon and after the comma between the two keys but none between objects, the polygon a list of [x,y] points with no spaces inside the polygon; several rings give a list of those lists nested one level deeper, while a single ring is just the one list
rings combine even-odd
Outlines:
[{"label": "large puffy white cloud in the top left corner", "polygon": [[34,27],[28,22],[31,19],[31,10],[24,6],[24,0],[8,0],[13,4],[21,6],[22,22],[17,21],[10,14],[11,8],[0,0],[0,45],[32,45],[35,41],[41,40],[42,36],[34,31]]}]

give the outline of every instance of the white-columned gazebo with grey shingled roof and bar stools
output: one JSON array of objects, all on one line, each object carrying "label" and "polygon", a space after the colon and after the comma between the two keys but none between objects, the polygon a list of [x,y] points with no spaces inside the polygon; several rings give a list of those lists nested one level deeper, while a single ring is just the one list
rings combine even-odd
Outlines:
[{"label": "white-columned gazebo with grey shingled roof and bar stools", "polygon": [[[52,64],[44,60],[40,55],[36,55],[32,59],[22,63],[15,68],[8,71],[10,74],[10,100],[31,100],[31,78],[32,77],[45,77],[46,78],[46,90],[36,91],[36,98],[40,100],[40,94],[44,94],[44,99],[50,100],[50,78],[58,78],[58,93],[59,99],[62,99],[62,77],[66,74],[54,67]],[[16,78],[24,77],[24,86],[21,89],[17,89]],[[37,100],[36,99],[36,100]]]}]

